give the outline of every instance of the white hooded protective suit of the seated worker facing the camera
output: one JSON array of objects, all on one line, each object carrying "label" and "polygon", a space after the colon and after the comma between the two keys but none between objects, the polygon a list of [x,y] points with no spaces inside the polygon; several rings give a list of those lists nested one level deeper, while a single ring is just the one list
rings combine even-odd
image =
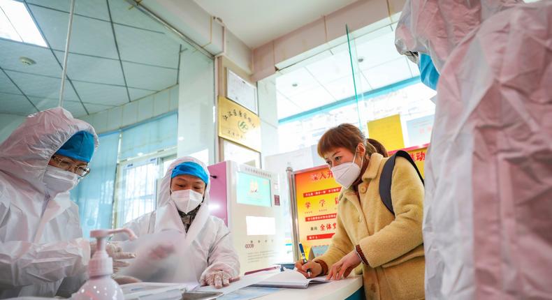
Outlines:
[{"label": "white hooded protective suit of the seated worker facing the camera", "polygon": [[[209,176],[209,170],[200,160],[191,157],[178,158],[170,164],[161,181],[157,209],[126,223],[124,227],[130,228],[137,237],[164,230],[177,230],[183,234],[184,240],[179,241],[176,245],[180,249],[179,252],[187,253],[187,255],[179,257],[178,264],[186,266],[185,269],[179,270],[180,274],[178,275],[183,282],[199,282],[202,273],[206,274],[216,270],[225,271],[231,277],[237,277],[240,273],[240,262],[238,262],[238,255],[231,243],[230,231],[224,225],[223,220],[211,216],[209,212],[211,181],[205,188],[205,198],[196,217],[191,222],[188,232],[184,230],[175,202],[170,199],[170,175],[177,165],[187,161],[201,165]],[[112,240],[126,240],[126,237],[117,234]]]}]

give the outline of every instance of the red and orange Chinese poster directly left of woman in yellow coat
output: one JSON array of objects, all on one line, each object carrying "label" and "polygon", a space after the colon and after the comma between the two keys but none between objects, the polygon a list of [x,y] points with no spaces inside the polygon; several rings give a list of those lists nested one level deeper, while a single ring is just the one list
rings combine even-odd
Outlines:
[{"label": "red and orange Chinese poster directly left of woman in yellow coat", "polygon": [[305,253],[331,243],[337,226],[337,196],[341,186],[328,167],[295,173],[299,241]]}]

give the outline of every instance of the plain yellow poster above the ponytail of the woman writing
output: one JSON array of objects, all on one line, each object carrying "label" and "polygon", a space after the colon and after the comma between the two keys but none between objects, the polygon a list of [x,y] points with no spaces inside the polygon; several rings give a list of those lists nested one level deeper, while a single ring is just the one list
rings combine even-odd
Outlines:
[{"label": "plain yellow poster above the ponytail of the woman writing", "polygon": [[398,150],[405,147],[399,114],[369,121],[368,136],[384,144],[388,150]]}]

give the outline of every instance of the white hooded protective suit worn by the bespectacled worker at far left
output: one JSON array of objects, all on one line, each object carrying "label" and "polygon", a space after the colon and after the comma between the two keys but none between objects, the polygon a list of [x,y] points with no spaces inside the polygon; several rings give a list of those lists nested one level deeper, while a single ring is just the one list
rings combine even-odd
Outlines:
[{"label": "white hooded protective suit worn by the bespectacled worker at far left", "polygon": [[[71,136],[94,128],[62,108],[31,114],[0,145],[0,298],[75,292],[90,258],[69,193],[45,192],[48,161]],[[73,278],[71,278],[73,277]],[[73,285],[68,283],[72,283]]]}]

